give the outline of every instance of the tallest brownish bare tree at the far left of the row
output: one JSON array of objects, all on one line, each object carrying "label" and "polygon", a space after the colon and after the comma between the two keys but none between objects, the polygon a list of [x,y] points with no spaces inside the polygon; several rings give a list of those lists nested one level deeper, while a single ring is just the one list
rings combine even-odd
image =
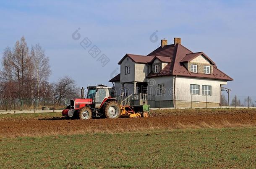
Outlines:
[{"label": "tallest brownish bare tree at the far left of the row", "polygon": [[[8,90],[15,90],[20,100],[21,106],[23,105],[24,98],[30,95],[33,82],[34,67],[29,56],[29,48],[27,47],[24,37],[17,41],[13,50],[6,48],[3,53],[3,71],[1,71],[1,78],[5,83],[12,81],[16,83],[16,87]],[[5,89],[7,90],[7,89]]]}]

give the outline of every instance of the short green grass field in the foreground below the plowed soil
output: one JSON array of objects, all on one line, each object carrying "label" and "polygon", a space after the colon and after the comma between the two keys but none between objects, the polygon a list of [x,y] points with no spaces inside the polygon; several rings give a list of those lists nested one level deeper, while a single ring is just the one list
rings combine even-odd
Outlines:
[{"label": "short green grass field in the foreground below the plowed soil", "polygon": [[1,168],[255,168],[256,128],[0,140]]}]

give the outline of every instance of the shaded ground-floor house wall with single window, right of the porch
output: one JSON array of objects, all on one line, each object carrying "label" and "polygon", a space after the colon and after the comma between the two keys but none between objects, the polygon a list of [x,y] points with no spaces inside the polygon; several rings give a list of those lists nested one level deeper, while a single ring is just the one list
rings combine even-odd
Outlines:
[{"label": "shaded ground-floor house wall with single window, right of the porch", "polygon": [[[147,79],[148,94],[154,95],[155,101],[173,100],[173,76],[162,76]],[[164,84],[165,93],[159,94],[159,84]]]}]

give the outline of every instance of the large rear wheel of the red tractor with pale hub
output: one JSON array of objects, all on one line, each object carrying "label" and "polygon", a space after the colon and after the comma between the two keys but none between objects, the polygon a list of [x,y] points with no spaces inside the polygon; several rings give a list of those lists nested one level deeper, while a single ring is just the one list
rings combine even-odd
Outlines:
[{"label": "large rear wheel of the red tractor with pale hub", "polygon": [[105,112],[105,116],[108,119],[117,119],[120,117],[121,110],[120,110],[120,106],[117,102],[110,101],[105,104],[104,112]]}]

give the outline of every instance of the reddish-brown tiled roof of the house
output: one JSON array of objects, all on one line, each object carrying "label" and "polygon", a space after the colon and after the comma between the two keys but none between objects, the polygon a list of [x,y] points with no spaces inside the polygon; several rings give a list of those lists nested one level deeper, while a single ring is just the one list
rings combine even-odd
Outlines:
[{"label": "reddish-brown tiled roof of the house", "polygon": [[[207,59],[209,59],[209,61],[214,65],[212,74],[190,73],[188,69],[184,66],[183,62],[191,61],[193,60],[193,58],[196,58],[201,54],[204,55]],[[132,55],[132,54],[126,54],[126,55],[128,55],[136,63],[149,63],[156,57],[158,58],[161,57],[161,59],[163,59],[164,57],[168,58],[168,61],[170,62],[165,66],[165,68],[163,68],[161,72],[159,73],[151,72],[149,73],[147,78],[174,75],[174,76],[185,76],[185,77],[193,77],[193,78],[209,78],[209,79],[217,79],[217,80],[224,80],[224,81],[233,80],[230,76],[227,76],[225,73],[220,71],[215,65],[215,63],[203,52],[193,53],[191,50],[189,50],[188,48],[185,48],[181,44],[176,44],[176,45],[172,44],[172,45],[165,45],[164,47],[159,47],[156,50],[154,50],[152,53],[149,53],[148,56]],[[121,61],[123,61],[123,59]],[[144,61],[142,61],[143,59]],[[120,64],[121,61],[118,64]],[[110,81],[112,81],[112,79]],[[120,81],[120,75],[119,75],[119,81]]]}]

